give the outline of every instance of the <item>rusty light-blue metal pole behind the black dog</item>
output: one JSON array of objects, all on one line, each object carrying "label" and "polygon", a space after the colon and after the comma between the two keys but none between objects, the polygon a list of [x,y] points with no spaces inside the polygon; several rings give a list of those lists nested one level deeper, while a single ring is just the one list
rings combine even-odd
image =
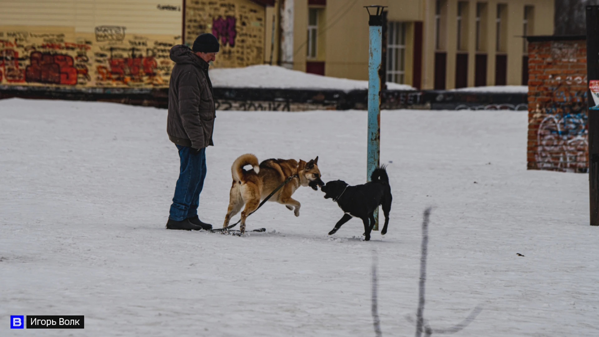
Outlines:
[{"label": "rusty light-blue metal pole behind the black dog", "polygon": [[[374,169],[379,167],[380,154],[380,88],[379,71],[382,59],[383,8],[386,6],[364,6],[368,11],[370,48],[368,49],[368,156],[366,179],[370,181]],[[373,10],[373,13],[370,13]],[[379,230],[379,207],[374,210],[373,230]]]}]

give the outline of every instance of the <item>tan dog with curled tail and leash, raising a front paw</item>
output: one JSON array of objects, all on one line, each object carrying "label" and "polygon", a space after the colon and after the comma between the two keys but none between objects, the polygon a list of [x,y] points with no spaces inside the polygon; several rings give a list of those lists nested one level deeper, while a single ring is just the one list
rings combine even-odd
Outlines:
[{"label": "tan dog with curled tail and leash, raising a front paw", "polygon": [[[239,213],[241,207],[246,207],[241,212],[240,230],[243,233],[246,230],[246,218],[250,213],[258,208],[260,201],[268,197],[285,179],[295,176],[279,191],[277,191],[268,201],[277,201],[284,204],[288,209],[295,207],[295,216],[299,216],[299,201],[291,197],[299,186],[310,186],[315,191],[317,186],[323,186],[325,183],[320,180],[320,171],[318,170],[318,157],[307,163],[299,160],[299,163],[293,159],[269,159],[258,165],[258,158],[252,154],[244,154],[237,158],[231,166],[233,184],[229,192],[229,207],[225,215],[223,228],[229,225],[231,217]],[[244,166],[251,165],[253,170],[246,171]]]}]

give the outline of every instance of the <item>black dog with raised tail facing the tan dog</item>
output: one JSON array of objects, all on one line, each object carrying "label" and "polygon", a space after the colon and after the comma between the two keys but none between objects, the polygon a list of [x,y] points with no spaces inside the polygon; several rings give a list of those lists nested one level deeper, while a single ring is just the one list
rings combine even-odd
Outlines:
[{"label": "black dog with raised tail facing the tan dog", "polygon": [[380,233],[383,235],[387,233],[393,197],[385,166],[374,170],[370,180],[363,185],[356,186],[349,186],[343,180],[335,180],[329,181],[320,188],[325,192],[325,199],[332,198],[345,212],[343,218],[335,224],[335,228],[329,231],[329,235],[335,234],[341,225],[355,216],[364,222],[364,240],[370,240],[370,231],[374,226],[374,210],[379,205],[383,206],[383,213],[385,213],[385,225]]}]

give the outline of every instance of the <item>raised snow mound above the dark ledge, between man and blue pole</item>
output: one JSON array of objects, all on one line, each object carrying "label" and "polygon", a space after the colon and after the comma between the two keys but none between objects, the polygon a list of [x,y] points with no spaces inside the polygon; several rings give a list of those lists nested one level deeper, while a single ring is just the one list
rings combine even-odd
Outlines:
[{"label": "raised snow mound above the dark ledge, between man and blue pole", "polygon": [[[273,88],[273,89],[329,89],[366,90],[368,81],[340,79],[289,70],[276,65],[251,65],[245,68],[216,68],[210,70],[214,88]],[[416,90],[409,85],[387,83],[391,90]]]}]

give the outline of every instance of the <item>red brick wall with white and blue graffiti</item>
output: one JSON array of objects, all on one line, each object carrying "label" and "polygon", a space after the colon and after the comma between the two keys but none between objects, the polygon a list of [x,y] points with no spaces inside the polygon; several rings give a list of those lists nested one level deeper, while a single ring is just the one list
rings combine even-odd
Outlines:
[{"label": "red brick wall with white and blue graffiti", "polygon": [[587,172],[585,37],[528,41],[527,169]]}]

